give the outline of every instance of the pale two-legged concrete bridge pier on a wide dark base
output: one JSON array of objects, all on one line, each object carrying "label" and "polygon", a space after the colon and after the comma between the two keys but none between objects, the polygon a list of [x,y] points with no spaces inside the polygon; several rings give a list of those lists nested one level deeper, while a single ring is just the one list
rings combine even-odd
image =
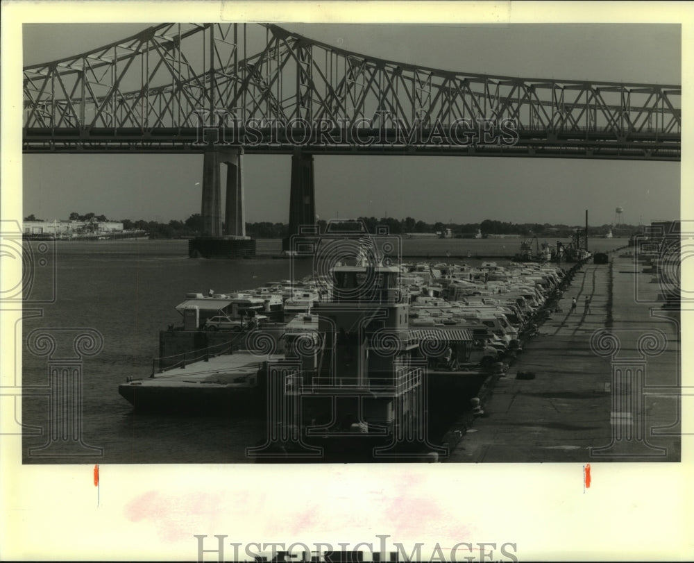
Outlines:
[{"label": "pale two-legged concrete bridge pier on a wide dark base", "polygon": [[[191,258],[240,258],[255,255],[246,237],[243,155],[238,149],[208,149],[203,160],[201,216],[203,232],[188,243]],[[225,228],[222,234],[220,165],[227,165]]]}]

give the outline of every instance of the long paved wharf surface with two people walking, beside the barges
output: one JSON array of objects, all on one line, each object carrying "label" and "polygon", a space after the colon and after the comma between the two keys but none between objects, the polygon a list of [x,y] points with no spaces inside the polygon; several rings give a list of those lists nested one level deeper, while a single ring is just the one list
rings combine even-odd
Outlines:
[{"label": "long paved wharf surface with two people walking, beside the barges", "polygon": [[621,252],[577,271],[449,462],[680,460],[679,311],[663,310],[654,274]]}]

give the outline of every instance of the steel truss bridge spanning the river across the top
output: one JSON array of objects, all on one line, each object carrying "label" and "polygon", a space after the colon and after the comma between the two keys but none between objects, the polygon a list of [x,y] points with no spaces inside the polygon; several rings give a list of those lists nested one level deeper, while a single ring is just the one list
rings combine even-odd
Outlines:
[{"label": "steel truss bridge spanning the river across the top", "polygon": [[[220,162],[235,167],[237,222],[240,153],[292,153],[291,205],[308,219],[313,204],[299,202],[313,199],[316,154],[679,161],[681,96],[679,85],[417,67],[269,24],[162,24],[24,67],[23,149],[205,153],[210,186]],[[203,185],[210,235],[221,234],[217,208]],[[229,212],[228,198],[227,226]]]}]

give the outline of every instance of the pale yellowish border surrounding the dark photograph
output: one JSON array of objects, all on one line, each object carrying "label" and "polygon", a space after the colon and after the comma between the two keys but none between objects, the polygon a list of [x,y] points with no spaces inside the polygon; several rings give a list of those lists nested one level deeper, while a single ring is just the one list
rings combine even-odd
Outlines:
[{"label": "pale yellowish border surrounding the dark photograph", "polygon": [[[682,107],[691,108],[693,14],[691,3],[672,2],[4,2],[2,217],[22,217],[23,23],[680,23]],[[683,116],[686,218],[694,217],[694,159],[691,112]],[[683,264],[683,279],[691,274],[691,264]],[[3,310],[0,319],[2,385],[14,380],[14,358],[21,357],[21,343],[12,342],[18,314]],[[692,314],[682,312],[684,385],[692,385],[684,345],[693,342]],[[93,464],[23,466],[21,437],[1,436],[0,558],[194,560],[194,535],[227,535],[227,546],[365,541],[375,547],[378,535],[389,535],[390,544],[401,542],[408,552],[416,542],[424,550],[511,542],[518,560],[691,560],[691,406],[691,396],[683,396],[681,463],[591,463],[587,490],[581,464],[133,464],[99,468],[97,506]],[[13,416],[0,412],[3,426]],[[225,559],[232,553],[228,547]],[[500,558],[495,552],[493,559]]]}]

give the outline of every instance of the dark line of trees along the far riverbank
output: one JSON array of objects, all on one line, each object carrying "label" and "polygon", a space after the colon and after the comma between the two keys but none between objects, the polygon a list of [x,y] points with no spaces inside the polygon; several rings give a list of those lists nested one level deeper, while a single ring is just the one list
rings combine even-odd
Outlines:
[{"label": "dark line of trees along the far riverbank", "polygon": [[[105,215],[96,215],[93,212],[81,215],[78,212],[72,212],[69,216],[71,221],[109,221]],[[447,223],[441,221],[436,223],[425,223],[418,221],[413,217],[405,219],[394,219],[393,217],[358,217],[362,221],[369,233],[375,233],[378,226],[387,226],[388,232],[392,235],[406,234],[438,234],[450,229],[451,237],[471,237],[478,230],[482,236],[486,235],[521,235],[521,236],[538,236],[538,237],[570,237],[577,228],[583,226],[569,226],[564,224],[540,224],[540,223],[509,223],[505,221],[496,221],[493,219],[484,219],[481,223]],[[32,214],[24,218],[25,221],[42,221],[36,219]],[[124,230],[143,230],[149,234],[151,238],[188,238],[201,235],[203,230],[203,219],[199,213],[194,213],[185,221],[171,219],[168,223],[160,221],[144,221],[138,219],[120,219],[123,223]],[[320,233],[325,233],[327,221],[319,219],[316,221]],[[610,225],[589,226],[589,236],[602,236],[611,228]],[[615,235],[631,235],[638,230],[638,226],[620,225],[612,227]],[[246,223],[246,235],[259,239],[279,239],[289,236],[289,225],[286,223],[272,223],[271,221],[256,221],[255,223]]]}]

